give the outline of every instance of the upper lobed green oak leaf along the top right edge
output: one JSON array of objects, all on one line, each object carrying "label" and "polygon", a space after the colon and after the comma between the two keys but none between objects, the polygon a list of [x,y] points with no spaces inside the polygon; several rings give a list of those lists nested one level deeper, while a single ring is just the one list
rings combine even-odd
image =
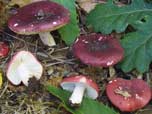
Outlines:
[{"label": "upper lobed green oak leaf along the top right edge", "polygon": [[133,0],[132,4],[119,7],[112,0],[105,4],[99,4],[87,16],[87,24],[96,32],[109,34],[113,30],[120,33],[125,31],[128,25],[143,19],[146,15],[152,15],[152,7],[143,0]]}]

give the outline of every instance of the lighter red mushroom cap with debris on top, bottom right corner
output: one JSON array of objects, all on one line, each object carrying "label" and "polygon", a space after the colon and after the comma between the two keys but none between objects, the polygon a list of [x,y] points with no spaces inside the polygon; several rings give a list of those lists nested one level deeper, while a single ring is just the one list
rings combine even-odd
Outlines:
[{"label": "lighter red mushroom cap with debris on top, bottom right corner", "polygon": [[144,107],[151,99],[151,89],[141,79],[116,78],[106,87],[110,101],[121,111],[135,111]]}]

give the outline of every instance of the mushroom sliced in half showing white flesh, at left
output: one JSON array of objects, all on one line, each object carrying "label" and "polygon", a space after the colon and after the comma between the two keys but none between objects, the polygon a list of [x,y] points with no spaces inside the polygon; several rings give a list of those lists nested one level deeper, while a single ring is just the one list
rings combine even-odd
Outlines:
[{"label": "mushroom sliced in half showing white flesh, at left", "polygon": [[14,85],[23,82],[28,86],[30,78],[40,79],[43,67],[35,56],[28,51],[17,52],[8,64],[6,76]]}]

